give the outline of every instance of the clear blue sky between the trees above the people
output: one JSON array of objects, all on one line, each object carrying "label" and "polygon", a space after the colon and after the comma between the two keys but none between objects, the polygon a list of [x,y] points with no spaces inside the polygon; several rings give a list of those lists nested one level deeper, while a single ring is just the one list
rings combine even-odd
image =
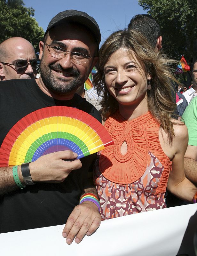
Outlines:
[{"label": "clear blue sky between the trees above the people", "polygon": [[101,43],[112,32],[126,28],[134,15],[146,13],[138,5],[138,0],[23,0],[23,2],[26,7],[33,7],[34,18],[44,31],[49,21],[59,12],[69,9],[87,12],[99,24]]}]

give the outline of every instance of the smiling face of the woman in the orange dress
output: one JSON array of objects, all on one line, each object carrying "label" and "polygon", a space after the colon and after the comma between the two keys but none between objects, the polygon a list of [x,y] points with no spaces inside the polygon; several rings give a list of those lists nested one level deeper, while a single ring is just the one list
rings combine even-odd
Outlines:
[{"label": "smiling face of the woman in the orange dress", "polygon": [[125,48],[120,48],[110,56],[104,73],[107,89],[118,101],[119,110],[125,105],[143,104],[143,108],[146,106],[144,111],[148,111],[147,80],[151,77],[146,75],[136,58],[128,56]]}]

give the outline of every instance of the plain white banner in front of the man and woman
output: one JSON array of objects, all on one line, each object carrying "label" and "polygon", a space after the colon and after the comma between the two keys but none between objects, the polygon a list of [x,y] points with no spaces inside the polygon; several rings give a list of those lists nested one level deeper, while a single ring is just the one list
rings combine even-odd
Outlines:
[{"label": "plain white banner in front of the man and woman", "polygon": [[67,245],[61,236],[63,227],[0,234],[0,255],[195,256],[197,204],[102,221],[99,229],[92,236],[85,236],[80,244]]}]

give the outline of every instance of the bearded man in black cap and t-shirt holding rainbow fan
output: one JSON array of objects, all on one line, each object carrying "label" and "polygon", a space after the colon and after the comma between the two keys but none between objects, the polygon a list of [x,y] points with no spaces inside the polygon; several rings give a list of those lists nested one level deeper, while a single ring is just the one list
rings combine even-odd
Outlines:
[{"label": "bearded man in black cap and t-shirt holding rainbow fan", "polygon": [[[98,60],[100,40],[98,24],[85,12],[67,10],[50,21],[39,43],[40,78],[2,81],[0,145],[14,124],[41,108],[74,107],[101,122],[98,111],[75,94]],[[95,154],[64,161],[76,157],[66,150],[13,168],[1,167],[0,233],[67,222],[62,233],[67,244],[75,236],[80,243],[85,234],[91,235],[100,225],[99,206],[91,200],[79,204],[79,199],[95,193],[89,172]]]}]

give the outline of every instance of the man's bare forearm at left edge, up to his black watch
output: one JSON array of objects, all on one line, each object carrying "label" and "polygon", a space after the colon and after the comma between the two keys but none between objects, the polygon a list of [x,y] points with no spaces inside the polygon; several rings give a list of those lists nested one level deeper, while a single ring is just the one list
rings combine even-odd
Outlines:
[{"label": "man's bare forearm at left edge, up to his black watch", "polygon": [[[18,175],[21,182],[23,177],[21,174],[21,168],[18,166]],[[0,195],[4,195],[19,188],[13,178],[12,167],[1,167],[0,168]]]}]

